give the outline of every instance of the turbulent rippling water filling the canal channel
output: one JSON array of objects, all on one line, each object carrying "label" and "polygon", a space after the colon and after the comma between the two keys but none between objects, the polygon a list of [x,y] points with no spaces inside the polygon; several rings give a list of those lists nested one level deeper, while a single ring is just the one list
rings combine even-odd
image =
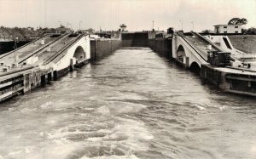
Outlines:
[{"label": "turbulent rippling water filling the canal channel", "polygon": [[255,159],[256,99],[149,48],[119,49],[0,105],[0,158]]}]

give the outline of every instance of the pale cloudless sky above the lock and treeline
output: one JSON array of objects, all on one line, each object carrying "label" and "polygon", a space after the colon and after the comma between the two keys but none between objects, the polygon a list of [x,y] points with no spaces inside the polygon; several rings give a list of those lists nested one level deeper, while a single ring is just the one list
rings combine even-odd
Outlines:
[{"label": "pale cloudless sky above the lock and treeline", "polygon": [[128,31],[213,30],[234,17],[256,27],[256,0],[0,0],[0,26]]}]

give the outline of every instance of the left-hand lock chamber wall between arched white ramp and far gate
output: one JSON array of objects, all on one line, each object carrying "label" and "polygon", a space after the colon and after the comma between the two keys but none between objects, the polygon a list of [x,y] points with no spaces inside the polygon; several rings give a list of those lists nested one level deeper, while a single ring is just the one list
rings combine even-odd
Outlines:
[{"label": "left-hand lock chamber wall between arched white ramp and far gate", "polygon": [[112,54],[113,51],[122,47],[119,39],[111,40],[90,40],[90,60],[101,60],[103,57]]}]

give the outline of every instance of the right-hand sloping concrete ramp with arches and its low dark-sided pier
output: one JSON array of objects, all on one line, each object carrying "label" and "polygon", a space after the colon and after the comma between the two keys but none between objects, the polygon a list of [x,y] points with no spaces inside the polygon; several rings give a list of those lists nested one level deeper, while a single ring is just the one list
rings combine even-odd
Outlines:
[{"label": "right-hand sloping concrete ramp with arches and its low dark-sided pier", "polygon": [[[218,43],[218,44],[216,44]],[[207,51],[229,52],[233,54],[233,66],[214,66],[208,63]],[[172,57],[185,68],[201,73],[201,78],[224,90],[235,94],[256,96],[256,70],[245,68],[236,59],[241,54],[226,36],[202,37],[195,32],[184,34],[175,32],[172,39]],[[240,65],[240,67],[238,67]]]}]

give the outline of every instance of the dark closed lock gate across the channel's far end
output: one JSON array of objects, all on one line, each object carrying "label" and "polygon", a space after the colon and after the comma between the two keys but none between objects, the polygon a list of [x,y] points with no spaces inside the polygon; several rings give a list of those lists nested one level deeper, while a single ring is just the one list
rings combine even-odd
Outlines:
[{"label": "dark closed lock gate across the channel's far end", "polygon": [[122,47],[148,47],[148,32],[123,32]]}]

